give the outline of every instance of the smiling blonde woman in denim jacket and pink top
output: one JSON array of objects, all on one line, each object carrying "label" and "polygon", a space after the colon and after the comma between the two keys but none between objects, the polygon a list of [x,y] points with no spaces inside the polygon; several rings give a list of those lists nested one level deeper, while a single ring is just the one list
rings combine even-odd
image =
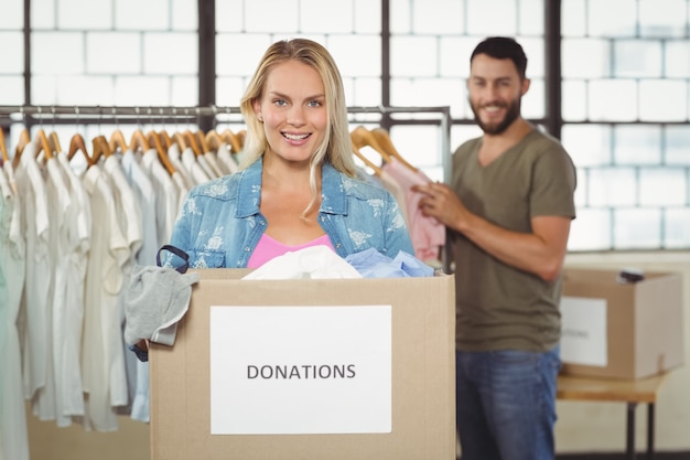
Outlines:
[{"label": "smiling blonde woman in denim jacket and pink top", "polygon": [[192,268],[254,268],[326,245],[413,254],[397,202],[355,179],[339,71],[316,42],[273,43],[241,99],[240,171],[190,191],[170,244]]}]

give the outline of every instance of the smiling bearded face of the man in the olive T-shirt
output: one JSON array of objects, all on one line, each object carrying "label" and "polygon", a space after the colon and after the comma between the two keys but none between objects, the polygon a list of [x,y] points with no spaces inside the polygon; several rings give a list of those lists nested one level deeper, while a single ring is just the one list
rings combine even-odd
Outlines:
[{"label": "smiling bearded face of the man in the olive T-shirt", "polygon": [[479,128],[492,136],[504,132],[519,116],[529,81],[520,78],[513,61],[477,54],[472,61],[467,93]]}]

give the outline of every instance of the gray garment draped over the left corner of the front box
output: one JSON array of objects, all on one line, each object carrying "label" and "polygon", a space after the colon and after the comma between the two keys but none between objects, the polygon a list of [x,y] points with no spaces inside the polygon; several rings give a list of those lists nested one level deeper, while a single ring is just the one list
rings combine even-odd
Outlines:
[{"label": "gray garment draped over the left corner of the front box", "polygon": [[134,266],[125,292],[125,342],[147,339],[172,346],[177,322],[190,308],[192,285],[198,272],[174,268]]}]

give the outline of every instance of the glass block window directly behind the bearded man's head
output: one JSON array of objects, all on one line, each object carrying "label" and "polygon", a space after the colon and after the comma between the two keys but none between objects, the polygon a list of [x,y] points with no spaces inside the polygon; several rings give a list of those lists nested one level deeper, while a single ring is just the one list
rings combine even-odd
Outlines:
[{"label": "glass block window directly behind the bearded man's head", "polygon": [[[473,122],[465,81],[472,50],[486,36],[514,35],[522,44],[531,78],[522,113],[528,118],[543,118],[543,0],[391,0],[389,8],[390,105],[449,106],[455,121],[451,152],[464,140],[481,135]],[[436,180],[448,179],[449,174],[433,149],[441,136],[438,126],[391,129],[400,153]]]}]

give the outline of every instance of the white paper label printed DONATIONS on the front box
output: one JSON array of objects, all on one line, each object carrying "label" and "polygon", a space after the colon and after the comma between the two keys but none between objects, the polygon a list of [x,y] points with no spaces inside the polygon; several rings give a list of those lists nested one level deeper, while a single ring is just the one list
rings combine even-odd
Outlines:
[{"label": "white paper label printed DONATIONS on the front box", "polygon": [[391,432],[391,307],[211,307],[211,434]]}]

